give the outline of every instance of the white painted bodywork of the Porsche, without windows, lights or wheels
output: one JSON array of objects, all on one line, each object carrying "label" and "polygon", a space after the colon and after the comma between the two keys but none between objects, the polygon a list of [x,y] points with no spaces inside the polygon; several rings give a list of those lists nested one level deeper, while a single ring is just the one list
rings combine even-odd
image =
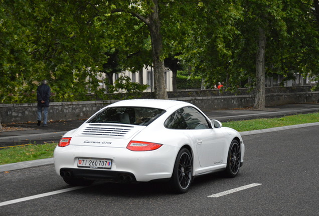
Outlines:
[{"label": "white painted bodywork of the Porsche, without windows, lights or wheels", "polygon": [[[101,110],[115,106],[157,107],[166,112],[149,125],[121,123],[89,123]],[[191,103],[173,100],[134,99],[122,100],[106,106],[85,121],[78,129],[67,132],[63,137],[72,137],[65,147],[57,146],[54,151],[56,172],[61,168],[77,169],[77,159],[111,159],[107,171],[132,173],[136,181],[170,178],[179,150],[187,146],[193,156],[193,175],[200,175],[226,167],[231,141],[236,138],[241,147],[241,162],[245,147],[240,134],[228,127],[207,129],[169,129],[165,120],[178,108],[192,106]],[[199,110],[199,109],[198,109]],[[201,111],[200,111],[201,112]],[[208,117],[201,112],[207,119]],[[209,120],[209,119],[208,119]],[[163,144],[155,150],[131,151],[126,148],[129,141],[145,141]],[[96,168],[84,168],[96,170]]]}]

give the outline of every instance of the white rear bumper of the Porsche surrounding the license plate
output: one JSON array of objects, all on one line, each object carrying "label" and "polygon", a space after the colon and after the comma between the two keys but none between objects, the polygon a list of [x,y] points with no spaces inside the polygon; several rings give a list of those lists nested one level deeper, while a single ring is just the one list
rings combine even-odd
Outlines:
[{"label": "white rear bumper of the Porsche surrounding the license plate", "polygon": [[[175,162],[176,147],[162,146],[157,151],[135,152],[126,148],[70,145],[67,151],[57,148],[54,151],[55,169],[60,174],[63,167],[77,168],[79,157],[112,159],[111,171],[131,172],[137,181],[150,181],[157,178],[169,178]],[[174,159],[173,159],[174,158]],[[87,168],[96,170],[95,168]],[[105,170],[105,171],[108,171]]]}]

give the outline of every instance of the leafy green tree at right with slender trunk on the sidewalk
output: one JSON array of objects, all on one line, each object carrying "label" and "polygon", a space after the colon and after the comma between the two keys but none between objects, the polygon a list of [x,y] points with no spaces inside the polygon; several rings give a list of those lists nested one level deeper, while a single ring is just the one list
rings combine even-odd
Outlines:
[{"label": "leafy green tree at right with slender trunk on the sidewalk", "polygon": [[[287,79],[291,79],[293,72],[307,74],[309,71],[317,70],[313,65],[317,65],[318,61],[313,56],[317,56],[318,52],[315,54],[315,51],[310,51],[317,50],[317,46],[315,45],[316,48],[313,49],[313,44],[307,44],[317,39],[312,38],[315,33],[308,22],[307,8],[302,2],[298,0],[243,2],[247,14],[244,23],[248,29],[246,27],[242,33],[244,35],[248,33],[245,38],[250,38],[250,41],[255,38],[256,42],[252,44],[257,44],[254,107],[264,108],[265,72],[283,74]],[[308,64],[306,59],[311,59]]]}]

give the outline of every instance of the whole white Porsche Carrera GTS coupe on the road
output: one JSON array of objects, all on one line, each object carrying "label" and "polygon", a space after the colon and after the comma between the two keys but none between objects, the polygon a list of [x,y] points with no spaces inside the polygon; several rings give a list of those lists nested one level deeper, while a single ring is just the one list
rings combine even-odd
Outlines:
[{"label": "whole white Porsche Carrera GTS coupe on the road", "polygon": [[167,180],[183,193],[197,175],[236,176],[244,152],[236,130],[191,103],[132,99],[102,108],[67,132],[54,150],[54,164],[71,185]]}]

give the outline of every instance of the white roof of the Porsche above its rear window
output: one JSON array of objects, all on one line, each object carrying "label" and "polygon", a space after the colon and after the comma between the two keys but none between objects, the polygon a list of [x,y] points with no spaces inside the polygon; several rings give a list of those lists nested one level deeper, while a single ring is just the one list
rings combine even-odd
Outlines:
[{"label": "white roof of the Porsche above its rear window", "polygon": [[166,100],[166,99],[129,99],[121,100],[115,103],[112,103],[110,106],[144,106],[144,107],[155,107],[168,109],[172,106],[185,104],[190,105],[188,102],[179,101],[179,100]]}]

